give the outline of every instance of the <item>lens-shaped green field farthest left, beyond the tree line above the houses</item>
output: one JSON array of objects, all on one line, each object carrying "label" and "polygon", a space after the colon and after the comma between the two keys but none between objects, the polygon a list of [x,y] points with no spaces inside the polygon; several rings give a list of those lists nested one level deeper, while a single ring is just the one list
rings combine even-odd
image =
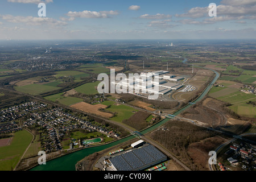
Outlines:
[{"label": "lens-shaped green field farthest left, beyond the tree line above the houses", "polygon": [[14,86],[14,89],[19,92],[28,93],[31,95],[38,95],[38,94],[50,92],[52,90],[57,90],[60,88],[55,86],[48,86],[48,85],[31,84],[26,86]]}]

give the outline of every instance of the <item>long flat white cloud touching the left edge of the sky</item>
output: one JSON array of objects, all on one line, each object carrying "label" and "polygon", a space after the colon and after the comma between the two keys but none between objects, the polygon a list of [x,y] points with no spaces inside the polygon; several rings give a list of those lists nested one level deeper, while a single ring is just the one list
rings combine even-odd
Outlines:
[{"label": "long flat white cloud touching the left edge of the sky", "polygon": [[13,15],[1,15],[3,20],[11,23],[26,23],[28,25],[50,25],[50,26],[65,26],[66,22],[56,20],[53,18],[43,18],[43,17],[34,17],[34,16],[13,16]]}]

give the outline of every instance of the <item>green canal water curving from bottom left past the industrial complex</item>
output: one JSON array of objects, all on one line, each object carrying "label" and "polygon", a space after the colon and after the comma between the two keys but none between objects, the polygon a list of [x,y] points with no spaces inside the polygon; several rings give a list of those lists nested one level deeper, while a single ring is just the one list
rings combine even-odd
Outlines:
[{"label": "green canal water curving from bottom left past the industrial complex", "polygon": [[[201,99],[203,99],[204,96],[209,92],[212,85],[218,80],[218,77],[220,76],[220,74],[218,72],[216,72],[212,69],[209,69],[209,70],[216,73],[216,77],[211,82],[211,84],[207,87],[207,89],[204,90],[204,92],[201,94],[201,96],[199,98],[197,98],[197,100],[195,100],[193,103],[199,102]],[[187,105],[187,106],[183,107],[182,109],[176,111],[172,115],[179,115],[181,112],[188,109],[188,107],[190,107],[190,106],[191,105]],[[141,131],[141,133],[146,134],[146,133],[156,129],[157,127],[163,125],[164,123],[166,123],[168,121],[170,121],[170,119],[168,119],[168,118],[163,119],[159,123],[156,123],[155,125],[149,127],[148,129]],[[46,165],[38,165],[38,166],[36,166],[36,167],[34,167],[30,170],[31,171],[75,171],[75,169],[76,169],[75,164],[77,162],[79,162],[79,160],[85,158],[86,156],[88,156],[90,154],[93,154],[94,152],[99,152],[99,151],[105,150],[106,148],[113,147],[117,144],[127,142],[131,139],[134,139],[134,138],[135,137],[133,135],[131,135],[130,137],[119,139],[115,142],[112,142],[112,143],[109,143],[109,144],[104,144],[102,146],[84,148],[82,150],[73,152],[71,154],[61,156],[60,158],[49,160],[49,161],[46,162]]]}]

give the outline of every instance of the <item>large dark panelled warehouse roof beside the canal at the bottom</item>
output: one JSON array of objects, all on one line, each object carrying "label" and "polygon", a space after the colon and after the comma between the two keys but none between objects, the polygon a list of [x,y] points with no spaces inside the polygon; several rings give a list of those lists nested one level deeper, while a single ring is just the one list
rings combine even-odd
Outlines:
[{"label": "large dark panelled warehouse roof beside the canal at the bottom", "polygon": [[166,159],[166,155],[154,146],[148,145],[126,152],[125,154],[115,156],[109,160],[118,171],[131,171],[142,168],[143,166],[154,163],[160,159]]}]

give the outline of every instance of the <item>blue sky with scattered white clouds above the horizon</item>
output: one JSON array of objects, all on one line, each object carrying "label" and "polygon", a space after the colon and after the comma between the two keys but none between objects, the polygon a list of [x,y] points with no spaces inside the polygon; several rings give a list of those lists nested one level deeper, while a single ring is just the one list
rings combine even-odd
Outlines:
[{"label": "blue sky with scattered white clouds above the horizon", "polygon": [[0,39],[255,39],[255,10],[256,0],[1,0]]}]

